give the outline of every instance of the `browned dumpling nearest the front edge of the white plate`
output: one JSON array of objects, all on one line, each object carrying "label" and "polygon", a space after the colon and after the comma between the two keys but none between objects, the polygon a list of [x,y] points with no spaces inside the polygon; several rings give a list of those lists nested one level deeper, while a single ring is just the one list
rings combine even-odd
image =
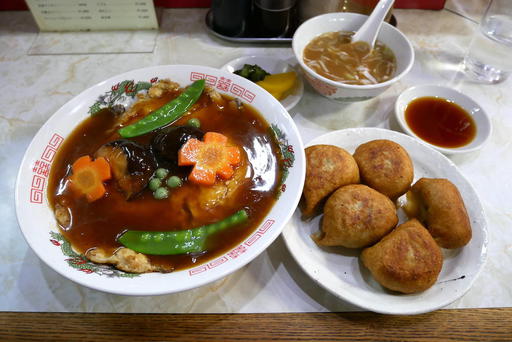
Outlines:
[{"label": "browned dumpling nearest the front edge of the white plate", "polygon": [[361,253],[363,264],[382,286],[402,293],[421,292],[437,280],[443,254],[415,219],[399,225]]}]

